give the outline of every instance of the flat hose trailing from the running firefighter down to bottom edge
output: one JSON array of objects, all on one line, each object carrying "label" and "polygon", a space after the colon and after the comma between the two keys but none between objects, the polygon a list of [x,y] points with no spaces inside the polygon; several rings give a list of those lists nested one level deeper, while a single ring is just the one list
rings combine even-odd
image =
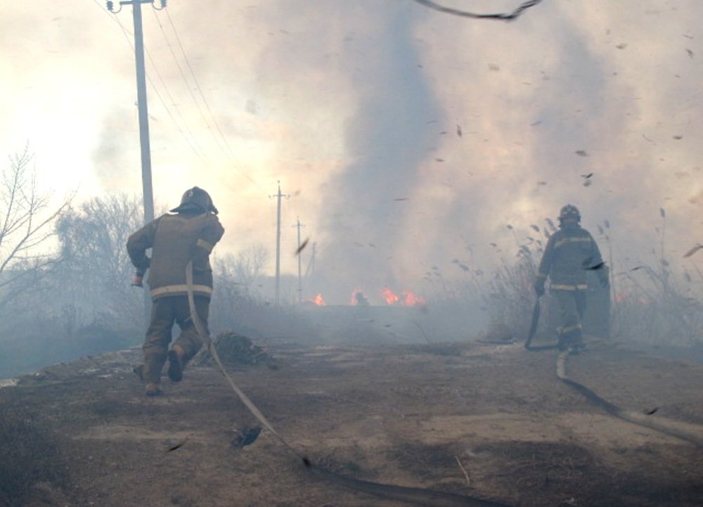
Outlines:
[{"label": "flat hose trailing from the running firefighter down to bottom edge", "polygon": [[415,505],[424,505],[432,507],[510,507],[506,503],[498,503],[496,501],[479,499],[473,496],[463,496],[459,494],[452,494],[446,492],[435,491],[432,489],[425,488],[415,488],[415,487],[404,487],[396,486],[394,484],[382,484],[380,482],[371,482],[365,480],[354,479],[352,477],[347,477],[345,475],[340,475],[331,470],[327,470],[312,463],[306,456],[300,454],[295,450],[292,445],[288,444],[285,439],[278,433],[269,421],[266,419],[262,411],[260,411],[257,406],[252,402],[249,397],[241,390],[232,380],[231,376],[227,373],[222,361],[217,354],[217,347],[209,337],[207,329],[200,320],[198,312],[195,310],[195,297],[193,296],[193,262],[188,262],[186,266],[186,286],[188,290],[188,307],[191,310],[191,319],[193,320],[193,325],[195,330],[198,331],[198,335],[207,349],[212,354],[212,357],[217,363],[222,375],[226,378],[232,390],[237,394],[241,402],[247,407],[247,409],[252,413],[252,415],[259,420],[264,427],[269,430],[289,451],[292,452],[297,458],[299,458],[304,466],[310,470],[312,473],[318,477],[329,480],[331,482],[336,482],[337,484],[342,484],[343,486],[354,489],[355,491],[360,491],[374,496],[380,496],[386,499],[394,499],[399,501],[404,501],[406,503],[414,503]]}]

